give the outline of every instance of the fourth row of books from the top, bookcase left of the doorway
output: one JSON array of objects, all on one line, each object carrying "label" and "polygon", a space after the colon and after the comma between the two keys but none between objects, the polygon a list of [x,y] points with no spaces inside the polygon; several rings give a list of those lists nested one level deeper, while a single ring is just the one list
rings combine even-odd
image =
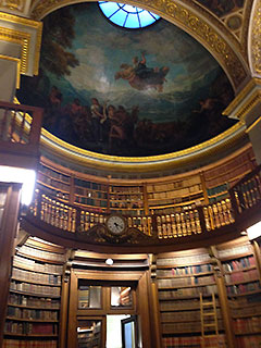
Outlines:
[{"label": "fourth row of books from the top, bookcase left of the doorway", "polygon": [[36,285],[29,283],[20,283],[12,281],[10,284],[11,290],[18,290],[32,294],[39,295],[50,295],[50,296],[60,296],[60,287],[47,286],[47,285]]}]

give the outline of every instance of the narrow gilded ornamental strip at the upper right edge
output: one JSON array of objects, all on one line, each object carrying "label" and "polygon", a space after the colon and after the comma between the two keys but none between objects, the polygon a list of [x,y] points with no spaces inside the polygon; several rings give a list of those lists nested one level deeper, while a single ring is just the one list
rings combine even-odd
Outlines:
[{"label": "narrow gilded ornamental strip at the upper right edge", "polygon": [[251,34],[252,69],[256,73],[261,74],[261,0],[256,4]]}]

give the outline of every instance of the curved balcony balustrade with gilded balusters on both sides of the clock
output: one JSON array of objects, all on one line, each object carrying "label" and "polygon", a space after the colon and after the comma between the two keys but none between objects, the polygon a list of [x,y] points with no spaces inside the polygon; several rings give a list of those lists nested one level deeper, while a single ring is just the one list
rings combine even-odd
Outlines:
[{"label": "curved balcony balustrade with gilded balusters on both sides of the clock", "polygon": [[[91,212],[78,207],[63,203],[49,197],[39,189],[35,194],[35,202],[30,214],[57,228],[71,233],[86,233],[97,224],[104,224],[108,214]],[[147,236],[159,239],[179,238],[201,233],[234,223],[231,200],[187,209],[173,214],[128,216],[128,227],[135,227]]]}]

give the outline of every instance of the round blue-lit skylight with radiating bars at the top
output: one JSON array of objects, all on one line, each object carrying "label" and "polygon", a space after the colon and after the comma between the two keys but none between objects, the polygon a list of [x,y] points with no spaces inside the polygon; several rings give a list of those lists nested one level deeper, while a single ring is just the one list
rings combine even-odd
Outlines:
[{"label": "round blue-lit skylight with radiating bars at the top", "polygon": [[160,18],[150,11],[120,2],[99,1],[99,7],[112,23],[124,28],[142,28]]}]

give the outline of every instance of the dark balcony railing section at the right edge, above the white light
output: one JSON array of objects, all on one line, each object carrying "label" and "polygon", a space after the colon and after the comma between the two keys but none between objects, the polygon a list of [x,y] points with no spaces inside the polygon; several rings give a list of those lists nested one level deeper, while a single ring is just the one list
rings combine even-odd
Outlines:
[{"label": "dark balcony railing section at the right edge, above the white light", "polygon": [[232,187],[229,196],[235,214],[240,214],[261,202],[261,165]]}]

